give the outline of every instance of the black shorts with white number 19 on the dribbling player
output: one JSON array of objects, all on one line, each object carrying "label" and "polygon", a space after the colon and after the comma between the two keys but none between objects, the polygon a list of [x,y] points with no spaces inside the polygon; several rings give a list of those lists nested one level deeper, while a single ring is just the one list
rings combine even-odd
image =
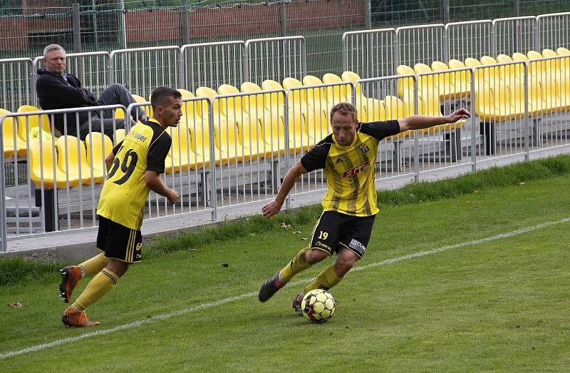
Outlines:
[{"label": "black shorts with white number 19 on the dribbling player", "polygon": [[375,215],[351,216],[336,211],[323,211],[311,238],[311,249],[333,255],[343,245],[362,257],[370,241]]}]

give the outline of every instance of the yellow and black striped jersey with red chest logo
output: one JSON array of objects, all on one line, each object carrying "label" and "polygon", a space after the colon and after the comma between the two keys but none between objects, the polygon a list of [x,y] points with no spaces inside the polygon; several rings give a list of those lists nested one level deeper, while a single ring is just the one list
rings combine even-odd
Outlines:
[{"label": "yellow and black striped jersey with red chest logo", "polygon": [[309,172],[324,169],[328,192],[323,210],[353,216],[378,213],[374,184],[378,143],[398,132],[398,121],[359,123],[351,145],[339,145],[331,134],[301,158]]}]

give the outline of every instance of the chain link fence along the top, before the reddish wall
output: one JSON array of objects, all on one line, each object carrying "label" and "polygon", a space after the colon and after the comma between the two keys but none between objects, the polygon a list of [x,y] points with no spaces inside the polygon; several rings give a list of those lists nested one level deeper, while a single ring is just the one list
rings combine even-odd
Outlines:
[{"label": "chain link fence along the top, before the reddish wall", "polygon": [[0,58],[40,56],[52,43],[80,53],[304,36],[307,73],[322,76],[341,73],[346,31],[568,11],[566,0],[78,0],[76,11],[72,2],[0,0]]}]

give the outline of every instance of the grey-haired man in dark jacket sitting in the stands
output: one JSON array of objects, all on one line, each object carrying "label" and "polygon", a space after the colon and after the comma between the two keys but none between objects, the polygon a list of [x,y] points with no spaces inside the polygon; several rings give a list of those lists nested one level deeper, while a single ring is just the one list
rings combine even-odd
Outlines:
[{"label": "grey-haired man in dark jacket sitting in the stands", "polygon": [[[38,81],[36,81],[36,93],[43,110],[62,108],[83,108],[88,106],[123,105],[129,106],[136,102],[133,96],[120,84],[113,84],[105,89],[99,99],[93,93],[81,86],[76,76],[66,73],[66,51],[57,44],[46,46],[43,50],[43,63],[46,68],[38,69]],[[145,120],[146,116],[133,111],[133,120]],[[103,128],[105,135],[113,138],[113,128],[125,128],[123,119],[114,119],[114,111],[97,110],[83,113],[68,113],[53,116],[54,126],[62,135],[79,136],[85,140],[88,133],[100,132]],[[78,120],[77,120],[78,119]]]}]

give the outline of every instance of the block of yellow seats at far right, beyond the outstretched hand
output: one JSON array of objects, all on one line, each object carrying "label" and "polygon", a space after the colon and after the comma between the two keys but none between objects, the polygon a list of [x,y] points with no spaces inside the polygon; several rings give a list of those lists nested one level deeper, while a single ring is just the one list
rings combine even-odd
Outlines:
[{"label": "block of yellow seats at far right, beyond the outstretched hand", "polygon": [[[527,55],[514,53],[512,56],[499,54],[497,58],[482,56],[480,61],[466,58],[465,63],[450,60],[448,64],[434,61],[432,66],[417,63],[414,68],[398,66],[398,75],[430,73],[450,68],[477,68],[497,63],[513,63],[509,66],[478,68],[475,75],[474,111],[485,122],[510,121],[524,116],[524,68],[516,62],[535,58],[569,56],[556,60],[532,61],[529,63],[527,113],[541,116],[545,113],[568,111],[570,109],[570,51],[558,48],[557,51],[544,49],[542,53],[529,51]],[[435,102],[457,100],[471,96],[470,71],[440,73],[418,78],[420,99]],[[403,78],[398,81],[398,94],[402,98],[412,97],[413,80]]]}]

